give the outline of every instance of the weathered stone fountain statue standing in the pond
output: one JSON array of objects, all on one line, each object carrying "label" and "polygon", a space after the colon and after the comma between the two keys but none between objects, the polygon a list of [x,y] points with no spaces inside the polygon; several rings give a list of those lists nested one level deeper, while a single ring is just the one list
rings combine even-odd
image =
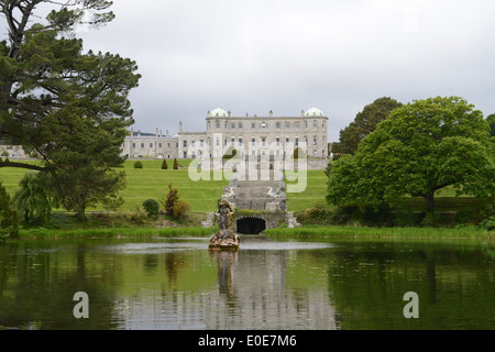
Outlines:
[{"label": "weathered stone fountain statue standing in the pond", "polygon": [[210,239],[210,251],[238,251],[240,237],[231,230],[233,209],[230,202],[222,198],[218,205],[217,223],[219,230]]}]

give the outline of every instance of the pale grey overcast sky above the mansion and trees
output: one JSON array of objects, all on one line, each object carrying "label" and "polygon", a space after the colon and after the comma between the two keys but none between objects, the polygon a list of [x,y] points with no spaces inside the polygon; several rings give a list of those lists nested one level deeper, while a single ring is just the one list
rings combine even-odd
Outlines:
[{"label": "pale grey overcast sky above the mansion and trees", "polygon": [[492,0],[114,0],[85,47],[138,62],[134,129],[205,131],[208,110],[330,119],[381,97],[460,96],[495,112]]}]

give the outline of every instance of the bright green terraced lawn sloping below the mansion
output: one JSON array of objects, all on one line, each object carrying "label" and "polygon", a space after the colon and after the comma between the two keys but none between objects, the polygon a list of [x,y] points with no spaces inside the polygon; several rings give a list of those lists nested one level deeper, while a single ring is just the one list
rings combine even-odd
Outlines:
[{"label": "bright green terraced lawn sloping below the mansion", "polygon": [[[187,167],[190,161],[178,161]],[[228,180],[193,182],[187,168],[172,169],[173,161],[168,161],[168,169],[162,169],[162,161],[143,160],[144,168],[133,168],[134,161],[125,162],[127,188],[121,191],[125,200],[122,210],[131,210],[141,206],[146,199],[165,198],[168,194],[168,184],[178,188],[179,197],[190,202],[194,212],[208,212],[217,209],[218,199],[223,194]],[[19,188],[19,180],[25,170],[21,168],[0,168],[0,180],[11,195]],[[287,206],[289,211],[300,211],[311,206],[319,205],[329,209],[333,208],[326,204],[327,176],[324,170],[308,170],[307,187],[300,194],[287,194]],[[425,208],[422,198],[400,200],[404,209],[420,211]],[[446,188],[436,198],[437,211],[457,211],[460,209],[473,209],[480,206],[477,199],[472,197],[454,197],[452,189]],[[88,209],[91,211],[92,209]],[[101,210],[101,209],[95,209]]]}]

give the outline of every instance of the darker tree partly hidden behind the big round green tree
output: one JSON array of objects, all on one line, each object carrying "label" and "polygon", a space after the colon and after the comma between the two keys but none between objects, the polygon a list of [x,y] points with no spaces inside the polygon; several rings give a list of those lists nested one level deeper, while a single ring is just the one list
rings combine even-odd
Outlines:
[{"label": "darker tree partly hidden behind the big round green tree", "polygon": [[334,154],[354,154],[362,139],[372,133],[376,125],[385,120],[394,109],[403,105],[392,98],[380,98],[373,103],[364,107],[359,112],[353,122],[340,131],[338,143],[333,143],[332,153]]}]

